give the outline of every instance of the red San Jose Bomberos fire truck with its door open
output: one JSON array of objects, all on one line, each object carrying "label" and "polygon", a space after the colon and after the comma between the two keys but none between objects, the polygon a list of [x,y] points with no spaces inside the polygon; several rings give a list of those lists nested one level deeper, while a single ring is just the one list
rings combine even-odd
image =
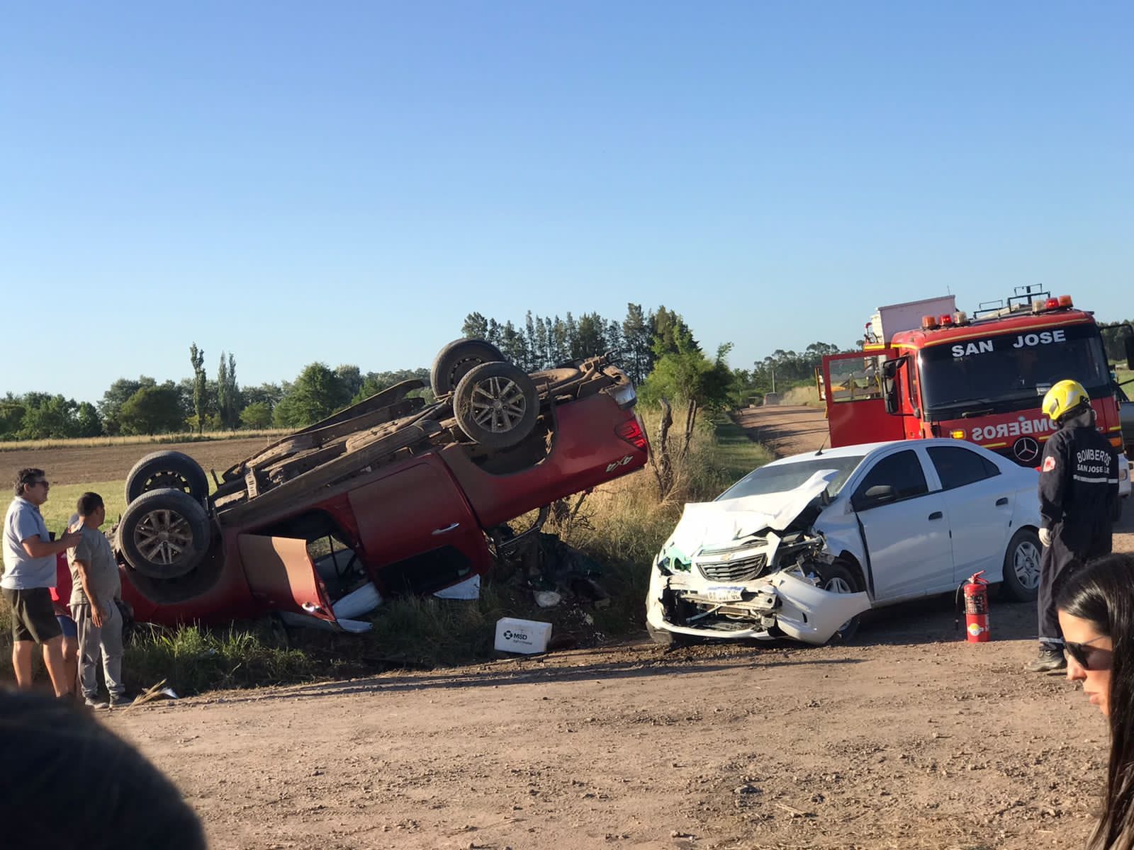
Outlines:
[{"label": "red San Jose Bomberos fire truck with its door open", "polygon": [[[1125,341],[1134,368],[1134,335]],[[1123,449],[1093,314],[1038,287],[1017,287],[972,316],[954,296],[880,307],[863,350],[824,357],[818,377],[831,445],[953,436],[1035,466],[1055,431],[1040,401],[1069,377],[1090,393],[1099,430]]]}]

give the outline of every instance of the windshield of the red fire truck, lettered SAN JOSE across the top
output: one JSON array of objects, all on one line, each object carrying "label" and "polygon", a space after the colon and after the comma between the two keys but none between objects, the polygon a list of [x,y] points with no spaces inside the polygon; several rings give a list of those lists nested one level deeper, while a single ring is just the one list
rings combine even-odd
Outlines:
[{"label": "windshield of the red fire truck, lettered SAN JOSE across the top", "polygon": [[1093,324],[942,342],[923,348],[917,365],[924,416],[932,419],[1036,408],[1051,384],[1068,377],[1092,398],[1110,393],[1102,339]]}]

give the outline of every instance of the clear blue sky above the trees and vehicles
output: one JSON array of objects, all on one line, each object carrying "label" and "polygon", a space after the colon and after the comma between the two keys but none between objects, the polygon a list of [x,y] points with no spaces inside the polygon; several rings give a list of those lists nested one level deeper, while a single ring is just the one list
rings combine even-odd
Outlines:
[{"label": "clear blue sky above the trees and vehicles", "polygon": [[1128,3],[24,3],[0,392],[428,366],[479,311],[734,366],[1023,283],[1134,317]]}]

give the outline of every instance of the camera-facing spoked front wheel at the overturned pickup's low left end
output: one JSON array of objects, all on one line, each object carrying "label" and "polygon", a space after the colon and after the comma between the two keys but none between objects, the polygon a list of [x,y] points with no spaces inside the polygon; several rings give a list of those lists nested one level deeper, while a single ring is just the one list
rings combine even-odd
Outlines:
[{"label": "camera-facing spoked front wheel at the overturned pickup's low left end", "polygon": [[179,490],[151,490],[128,505],[118,524],[118,550],[150,578],[192,572],[209,551],[209,517],[201,502]]}]

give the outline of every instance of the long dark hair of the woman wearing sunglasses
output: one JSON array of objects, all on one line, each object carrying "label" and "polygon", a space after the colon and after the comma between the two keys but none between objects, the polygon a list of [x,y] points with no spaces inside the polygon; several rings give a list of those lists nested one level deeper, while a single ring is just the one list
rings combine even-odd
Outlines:
[{"label": "long dark hair of the woman wearing sunglasses", "polygon": [[1134,848],[1134,555],[1100,558],[1064,583],[1056,607],[1090,622],[1114,644],[1110,764],[1102,816],[1089,847]]}]

